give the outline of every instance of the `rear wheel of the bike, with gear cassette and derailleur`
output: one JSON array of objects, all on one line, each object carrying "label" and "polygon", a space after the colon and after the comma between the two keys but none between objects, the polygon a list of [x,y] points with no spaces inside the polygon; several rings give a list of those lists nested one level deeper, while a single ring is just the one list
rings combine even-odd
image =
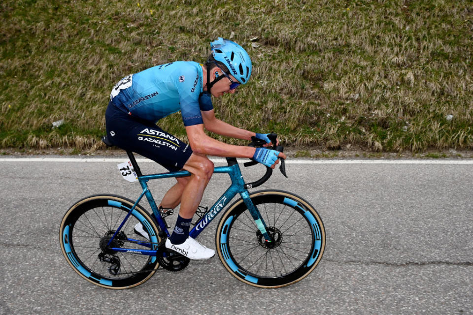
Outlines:
[{"label": "rear wheel of the bike, with gear cassette and derailleur", "polygon": [[[157,250],[160,238],[154,219],[136,206],[107,247],[134,202],[115,195],[94,195],[74,204],[59,229],[61,250],[69,265],[82,278],[106,288],[125,289],[148,280],[158,269],[156,256],[138,254]],[[140,222],[150,240],[135,234]],[[128,249],[117,252],[110,248]]]}]

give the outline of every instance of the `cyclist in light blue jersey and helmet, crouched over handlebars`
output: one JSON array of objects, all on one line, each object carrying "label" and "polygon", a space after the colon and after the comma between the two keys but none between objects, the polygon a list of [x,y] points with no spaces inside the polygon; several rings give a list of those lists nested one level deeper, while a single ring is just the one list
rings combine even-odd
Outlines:
[{"label": "cyclist in light blue jersey and helmet, crouched over handlebars", "polygon": [[[161,64],[123,78],[113,88],[105,113],[112,144],[150,158],[169,171],[184,169],[191,173],[176,178],[177,183],[159,206],[160,210],[173,209],[181,204],[166,248],[190,259],[208,259],[215,254],[189,237],[190,222],[213,173],[214,165],[206,156],[253,158],[272,168],[278,157],[286,158],[278,151],[229,145],[205,134],[204,128],[239,139],[256,136],[270,143],[268,134],[244,130],[215,117],[210,96],[234,94],[239,85],[248,82],[251,60],[240,45],[221,37],[211,42],[210,48],[212,53],[205,64]],[[181,112],[189,144],[156,126],[161,118],[177,111]]]}]

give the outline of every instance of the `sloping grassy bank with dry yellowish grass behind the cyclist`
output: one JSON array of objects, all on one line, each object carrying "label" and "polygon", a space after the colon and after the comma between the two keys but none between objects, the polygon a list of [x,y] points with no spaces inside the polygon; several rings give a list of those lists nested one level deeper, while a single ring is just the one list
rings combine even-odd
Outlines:
[{"label": "sloping grassy bank with dry yellowish grass behind the cyclist", "polygon": [[[117,2],[0,3],[1,148],[100,147],[119,79],[203,62],[217,36],[254,63],[214,99],[228,123],[299,147],[473,148],[471,1]],[[179,114],[160,126],[184,138]]]}]

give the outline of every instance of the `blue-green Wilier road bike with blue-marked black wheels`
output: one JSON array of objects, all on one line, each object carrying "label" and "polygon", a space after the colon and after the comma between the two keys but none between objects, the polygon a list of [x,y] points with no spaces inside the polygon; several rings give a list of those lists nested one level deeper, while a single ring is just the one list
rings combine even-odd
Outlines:
[{"label": "blue-green Wilier road bike with blue-marked black wheels", "polygon": [[[275,144],[276,135],[270,137]],[[111,146],[106,137],[102,140]],[[256,138],[251,143],[263,144]],[[281,146],[275,149],[283,150]],[[72,269],[90,283],[111,289],[142,284],[160,266],[180,271],[190,262],[165,247],[170,236],[166,218],[172,211],[158,209],[147,182],[191,174],[177,171],[143,175],[133,153],[127,151],[127,155],[129,161],[121,169],[122,175],[135,176],[142,188],[139,197],[133,201],[113,194],[88,196],[68,209],[59,229],[61,250]],[[228,165],[215,167],[214,173],[228,174],[231,185],[210,209],[199,207],[198,220],[189,235],[197,238],[239,194],[216,229],[215,247],[222,264],[236,279],[257,287],[277,288],[302,280],[320,262],[325,249],[325,228],[317,211],[291,192],[249,192],[265,183],[272,169],[267,167],[262,178],[246,184],[236,158],[226,160]],[[255,164],[258,163],[244,163]],[[280,170],[286,175],[283,159]],[[151,214],[139,204],[143,196]],[[138,222],[148,237],[135,232]]]}]

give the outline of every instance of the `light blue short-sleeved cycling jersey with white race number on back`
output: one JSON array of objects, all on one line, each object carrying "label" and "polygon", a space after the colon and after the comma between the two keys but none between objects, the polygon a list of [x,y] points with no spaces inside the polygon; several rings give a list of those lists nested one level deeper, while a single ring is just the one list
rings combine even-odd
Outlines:
[{"label": "light blue short-sleeved cycling jersey with white race number on back", "polygon": [[110,100],[130,115],[156,123],[181,111],[184,126],[203,124],[201,111],[213,109],[210,94],[202,93],[202,66],[178,61],[157,65],[123,78]]}]

